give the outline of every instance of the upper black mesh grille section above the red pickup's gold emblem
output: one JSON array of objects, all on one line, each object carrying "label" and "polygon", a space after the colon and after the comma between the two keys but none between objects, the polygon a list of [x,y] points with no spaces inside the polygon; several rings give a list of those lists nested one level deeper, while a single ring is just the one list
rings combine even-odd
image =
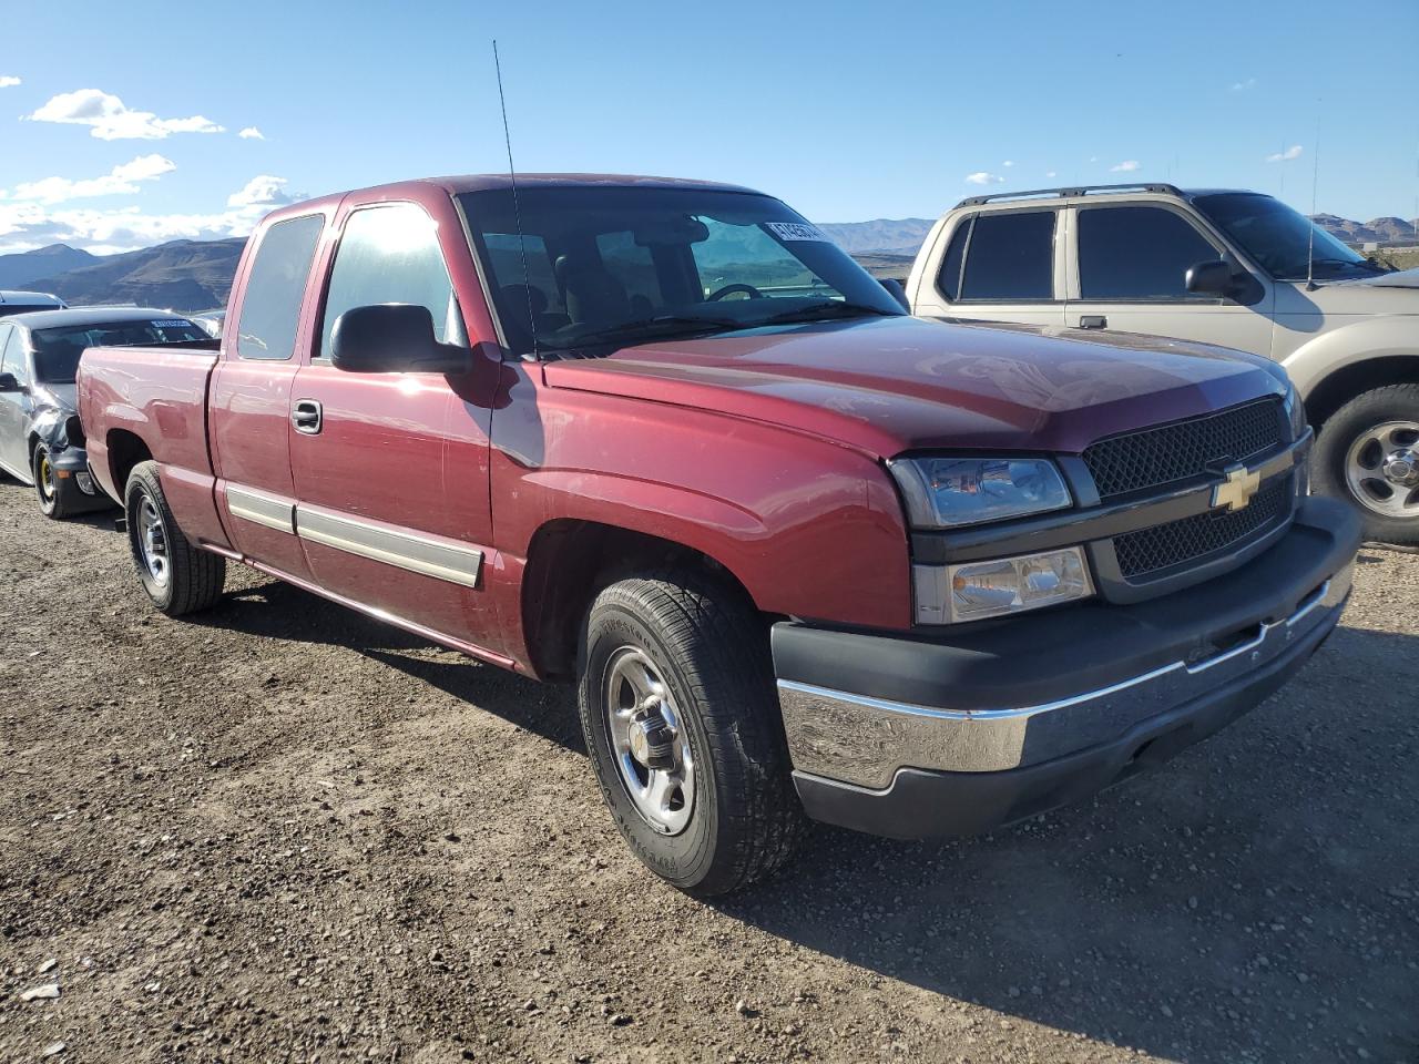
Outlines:
[{"label": "upper black mesh grille section above the red pickup's gold emblem", "polygon": [[1100,440],[1084,450],[1084,464],[1100,498],[1108,501],[1203,477],[1279,447],[1284,424],[1281,400],[1273,396],[1206,417]]}]

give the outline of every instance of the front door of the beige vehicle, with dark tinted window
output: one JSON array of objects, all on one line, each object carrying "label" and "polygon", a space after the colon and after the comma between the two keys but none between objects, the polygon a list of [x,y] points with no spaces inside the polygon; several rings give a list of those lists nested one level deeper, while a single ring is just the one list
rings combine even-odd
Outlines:
[{"label": "front door of the beige vehicle, with dark tinted window", "polygon": [[1164,203],[1118,203],[1078,206],[1073,213],[1074,270],[1066,306],[1071,328],[1142,332],[1270,355],[1270,284],[1253,278],[1239,298],[1188,291],[1189,267],[1235,260],[1186,211]]}]

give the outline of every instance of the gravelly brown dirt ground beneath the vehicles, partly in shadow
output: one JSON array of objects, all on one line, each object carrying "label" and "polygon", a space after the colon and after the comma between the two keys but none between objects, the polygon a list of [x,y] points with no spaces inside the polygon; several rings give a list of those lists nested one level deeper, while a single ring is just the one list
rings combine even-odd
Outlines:
[{"label": "gravelly brown dirt ground beneath the vehicles, partly in shadow", "polygon": [[[1419,558],[1279,697],[993,837],[712,905],[570,692],[247,570],[148,609],[0,485],[0,1060],[1419,1061]],[[26,1000],[54,986],[58,997]]]}]

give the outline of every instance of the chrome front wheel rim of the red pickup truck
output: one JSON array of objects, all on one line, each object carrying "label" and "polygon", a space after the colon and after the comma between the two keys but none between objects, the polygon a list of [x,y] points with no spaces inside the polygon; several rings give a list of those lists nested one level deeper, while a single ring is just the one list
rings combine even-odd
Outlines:
[{"label": "chrome front wheel rim of the red pickup truck", "polygon": [[640,817],[666,836],[685,830],[695,804],[690,736],[660,670],[639,647],[622,647],[603,681],[612,756]]}]

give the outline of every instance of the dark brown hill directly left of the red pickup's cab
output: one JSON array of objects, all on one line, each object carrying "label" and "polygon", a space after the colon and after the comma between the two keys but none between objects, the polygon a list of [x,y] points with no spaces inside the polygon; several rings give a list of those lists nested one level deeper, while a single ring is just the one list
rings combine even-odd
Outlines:
[{"label": "dark brown hill directly left of the red pickup's cab", "polygon": [[175,240],[122,255],[91,255],[89,264],[35,279],[30,287],[75,306],[138,304],[203,311],[226,305],[245,243]]}]

